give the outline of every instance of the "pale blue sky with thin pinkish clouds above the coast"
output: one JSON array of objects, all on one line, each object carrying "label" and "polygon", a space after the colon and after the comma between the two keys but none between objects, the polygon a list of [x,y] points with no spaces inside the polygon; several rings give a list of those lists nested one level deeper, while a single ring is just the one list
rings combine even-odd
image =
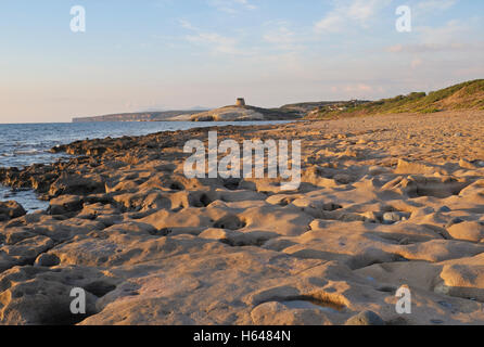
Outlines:
[{"label": "pale blue sky with thin pinkish clouds above the coast", "polygon": [[481,0],[1,0],[0,123],[432,91],[484,78],[482,33]]}]

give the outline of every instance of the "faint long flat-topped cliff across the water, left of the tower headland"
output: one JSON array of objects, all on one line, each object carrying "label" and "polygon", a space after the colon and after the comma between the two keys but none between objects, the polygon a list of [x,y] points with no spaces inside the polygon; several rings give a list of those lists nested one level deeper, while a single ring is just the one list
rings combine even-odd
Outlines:
[{"label": "faint long flat-topped cliff across the water, left of the tower headland", "polygon": [[181,115],[193,115],[204,112],[206,110],[191,110],[191,111],[163,111],[163,112],[140,112],[140,113],[123,113],[104,115],[97,117],[75,117],[73,123],[89,123],[89,121],[163,121],[170,120],[169,118]]}]

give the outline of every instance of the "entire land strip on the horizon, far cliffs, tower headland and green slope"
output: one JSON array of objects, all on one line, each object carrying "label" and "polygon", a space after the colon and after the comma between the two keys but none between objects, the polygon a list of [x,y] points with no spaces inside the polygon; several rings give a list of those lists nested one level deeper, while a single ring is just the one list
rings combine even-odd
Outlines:
[{"label": "entire land strip on the horizon, far cliffs, tower headland and green slope", "polygon": [[233,105],[215,110],[141,112],[98,117],[73,118],[86,121],[257,121],[333,119],[399,113],[438,113],[444,111],[484,110],[484,79],[475,79],[432,92],[411,92],[379,101],[302,102],[276,108],[246,104],[238,98]]}]

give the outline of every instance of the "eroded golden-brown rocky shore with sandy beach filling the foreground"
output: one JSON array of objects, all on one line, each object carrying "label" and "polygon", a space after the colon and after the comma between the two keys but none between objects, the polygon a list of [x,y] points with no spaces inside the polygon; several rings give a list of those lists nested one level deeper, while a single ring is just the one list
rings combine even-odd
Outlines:
[{"label": "eroded golden-brown rocky shore with sandy beach filling the foreground", "polygon": [[484,324],[483,111],[216,129],[301,140],[296,191],[188,179],[183,145],[211,130],[0,170],[50,202],[0,204],[0,324]]}]

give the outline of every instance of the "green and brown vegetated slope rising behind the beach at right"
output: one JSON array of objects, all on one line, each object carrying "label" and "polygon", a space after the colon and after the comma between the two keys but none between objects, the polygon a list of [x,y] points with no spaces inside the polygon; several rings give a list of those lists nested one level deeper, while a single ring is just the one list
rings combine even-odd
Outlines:
[{"label": "green and brown vegetated slope rising behind the beach at right", "polygon": [[319,107],[309,118],[334,118],[395,113],[435,113],[454,110],[484,110],[484,79],[476,79],[430,93],[412,92],[372,102],[343,102]]}]

